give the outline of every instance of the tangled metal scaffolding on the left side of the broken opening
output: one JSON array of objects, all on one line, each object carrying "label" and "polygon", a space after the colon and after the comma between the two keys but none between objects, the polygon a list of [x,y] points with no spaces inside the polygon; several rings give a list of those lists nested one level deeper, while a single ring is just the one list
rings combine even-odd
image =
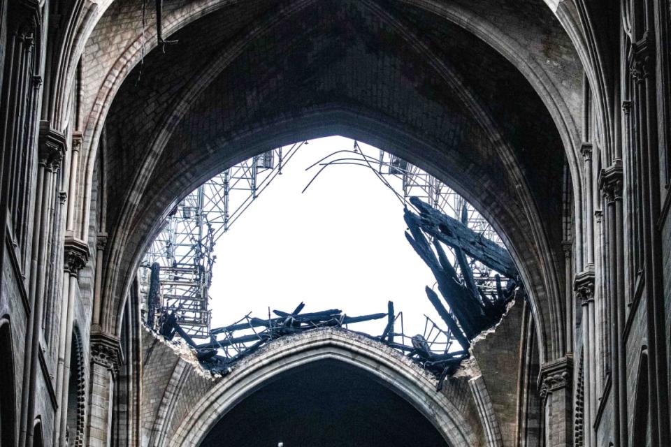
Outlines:
[{"label": "tangled metal scaffolding on the left side of the broken opening", "polygon": [[[305,142],[264,152],[215,175],[189,193],[166,217],[143,260],[150,282],[159,284],[148,296],[147,322],[161,325],[175,314],[190,337],[210,336],[209,289],[214,247],[240,215],[282,173]],[[156,265],[152,269],[152,266]],[[152,295],[151,290],[147,291]],[[154,321],[154,316],[157,316]]]}]

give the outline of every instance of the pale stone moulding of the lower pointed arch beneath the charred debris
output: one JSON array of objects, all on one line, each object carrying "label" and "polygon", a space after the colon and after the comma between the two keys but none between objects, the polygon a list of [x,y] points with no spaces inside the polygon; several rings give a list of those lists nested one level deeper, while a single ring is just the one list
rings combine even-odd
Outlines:
[{"label": "pale stone moulding of the lower pointed arch beneath the charred debris", "polygon": [[[311,362],[338,360],[362,369],[410,402],[449,445],[477,445],[475,433],[461,411],[445,394],[435,392],[435,380],[412,362],[398,358],[402,356],[389,355],[385,348],[363,337],[331,328],[277,340],[220,379],[189,411],[168,444],[198,445],[220,418],[264,383]],[[394,354],[398,353],[394,351]]]}]

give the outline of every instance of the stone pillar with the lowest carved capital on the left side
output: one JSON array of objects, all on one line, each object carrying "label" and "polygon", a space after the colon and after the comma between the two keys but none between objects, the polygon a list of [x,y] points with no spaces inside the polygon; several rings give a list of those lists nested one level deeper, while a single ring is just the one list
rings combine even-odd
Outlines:
[{"label": "stone pillar with the lowest carved capital on the left side", "polygon": [[112,335],[91,335],[91,389],[88,446],[109,447],[112,441],[114,380],[119,372],[121,345]]}]

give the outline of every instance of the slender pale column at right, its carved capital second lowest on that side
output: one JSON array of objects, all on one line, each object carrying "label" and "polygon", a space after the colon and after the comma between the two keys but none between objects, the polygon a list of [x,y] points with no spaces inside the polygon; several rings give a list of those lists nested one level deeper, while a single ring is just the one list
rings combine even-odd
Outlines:
[{"label": "slender pale column at right, its carved capital second lowest on that side", "polygon": [[594,270],[589,269],[575,275],[573,290],[582,305],[582,353],[584,374],[584,443],[596,447],[596,321],[594,319]]}]

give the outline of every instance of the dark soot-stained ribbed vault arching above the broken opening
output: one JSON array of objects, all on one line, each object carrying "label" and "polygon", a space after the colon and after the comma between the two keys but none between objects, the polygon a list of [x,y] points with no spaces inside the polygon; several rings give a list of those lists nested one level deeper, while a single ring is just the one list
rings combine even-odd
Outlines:
[{"label": "dark soot-stained ribbed vault arching above the broken opening", "polygon": [[[530,288],[541,355],[559,355],[565,136],[544,98],[499,52],[417,6],[260,3],[187,24],[108,106],[103,325],[117,325],[115,309],[171,203],[269,147],[340,134],[405,157],[489,217]],[[527,18],[559,29],[542,11]],[[570,60],[561,34],[547,34],[558,36],[547,55]]]}]

